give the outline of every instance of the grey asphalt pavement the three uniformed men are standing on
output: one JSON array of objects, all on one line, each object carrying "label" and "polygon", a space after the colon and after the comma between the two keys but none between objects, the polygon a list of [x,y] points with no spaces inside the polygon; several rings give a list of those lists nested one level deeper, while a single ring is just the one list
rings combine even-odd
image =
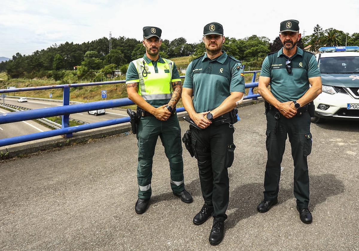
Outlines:
[{"label": "grey asphalt pavement the three uniformed men are standing on", "polygon": [[[359,250],[359,122],[312,124],[308,158],[312,224],[295,209],[287,142],[279,204],[256,211],[266,163],[263,104],[239,109],[225,237],[210,246],[211,219],[192,223],[203,199],[194,158],[183,151],[191,204],[173,196],[160,142],[152,197],[137,215],[135,135],[108,137],[0,162],[0,250]],[[180,122],[182,133],[188,128]]]}]

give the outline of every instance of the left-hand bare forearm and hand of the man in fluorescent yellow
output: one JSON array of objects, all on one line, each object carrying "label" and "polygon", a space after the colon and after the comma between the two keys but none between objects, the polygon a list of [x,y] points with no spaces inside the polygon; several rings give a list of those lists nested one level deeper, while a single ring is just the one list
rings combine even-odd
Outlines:
[{"label": "left-hand bare forearm and hand of the man in fluorescent yellow", "polygon": [[164,109],[166,105],[162,105],[158,108],[153,107],[146,100],[144,100],[138,93],[138,83],[126,84],[127,94],[129,99],[132,100],[136,105],[144,109],[145,111],[153,114],[157,119],[165,121],[169,118],[171,113]]}]

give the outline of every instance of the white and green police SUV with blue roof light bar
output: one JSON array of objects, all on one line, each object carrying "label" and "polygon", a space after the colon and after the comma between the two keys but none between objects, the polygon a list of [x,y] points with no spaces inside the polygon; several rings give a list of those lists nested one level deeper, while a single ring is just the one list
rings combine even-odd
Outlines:
[{"label": "white and green police SUV with blue roof light bar", "polygon": [[359,52],[353,52],[359,47],[322,47],[319,51],[322,93],[314,99],[312,122],[323,118],[359,120]]}]

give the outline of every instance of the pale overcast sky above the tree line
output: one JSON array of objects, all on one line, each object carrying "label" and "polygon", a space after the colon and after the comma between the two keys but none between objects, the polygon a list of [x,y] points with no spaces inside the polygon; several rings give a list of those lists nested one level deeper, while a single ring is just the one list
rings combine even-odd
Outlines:
[{"label": "pale overcast sky above the tree line", "polygon": [[[224,35],[256,34],[273,40],[279,24],[299,20],[309,35],[316,24],[352,34],[359,32],[358,0],[340,1],[1,1],[0,56],[28,55],[66,41],[82,43],[101,37],[142,39],[144,26],[162,29],[162,39],[185,37],[198,42],[210,22],[223,25]],[[301,3],[301,4],[299,4]]]}]

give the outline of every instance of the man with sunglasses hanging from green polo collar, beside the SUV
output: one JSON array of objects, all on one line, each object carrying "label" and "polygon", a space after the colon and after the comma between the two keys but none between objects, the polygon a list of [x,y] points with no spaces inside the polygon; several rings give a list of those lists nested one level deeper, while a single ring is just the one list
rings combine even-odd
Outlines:
[{"label": "man with sunglasses hanging from green polo collar, beside the SUV", "polygon": [[[280,164],[287,134],[294,160],[294,196],[300,220],[312,222],[308,209],[309,176],[307,156],[312,149],[309,105],[322,91],[320,71],[312,53],[297,47],[301,37],[299,22],[280,23],[283,48],[270,53],[262,64],[258,91],[268,102],[266,147],[268,152],[264,177],[264,200],[257,210],[267,212],[278,203]],[[270,90],[267,86],[271,84]],[[309,84],[312,86],[309,88]]]}]

